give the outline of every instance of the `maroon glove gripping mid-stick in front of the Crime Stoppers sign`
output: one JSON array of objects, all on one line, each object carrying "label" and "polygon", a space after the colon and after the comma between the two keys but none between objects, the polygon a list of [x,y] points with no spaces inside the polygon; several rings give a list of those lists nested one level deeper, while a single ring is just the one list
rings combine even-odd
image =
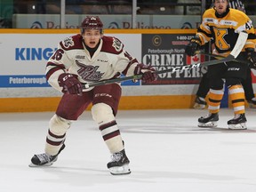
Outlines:
[{"label": "maroon glove gripping mid-stick in front of the Crime Stoppers sign", "polygon": [[141,80],[143,83],[150,83],[152,81],[156,81],[157,74],[155,68],[144,65],[142,63],[138,64],[135,68],[135,75],[142,75]]}]

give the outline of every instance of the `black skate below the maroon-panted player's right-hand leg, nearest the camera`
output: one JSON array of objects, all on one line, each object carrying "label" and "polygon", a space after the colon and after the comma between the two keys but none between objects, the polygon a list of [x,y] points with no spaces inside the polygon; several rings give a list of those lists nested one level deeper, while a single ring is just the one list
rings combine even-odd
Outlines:
[{"label": "black skate below the maroon-panted player's right-hand leg, nearest the camera", "polygon": [[125,155],[124,149],[120,152],[114,153],[111,156],[111,161],[107,164],[108,170],[113,175],[130,174],[129,159]]}]

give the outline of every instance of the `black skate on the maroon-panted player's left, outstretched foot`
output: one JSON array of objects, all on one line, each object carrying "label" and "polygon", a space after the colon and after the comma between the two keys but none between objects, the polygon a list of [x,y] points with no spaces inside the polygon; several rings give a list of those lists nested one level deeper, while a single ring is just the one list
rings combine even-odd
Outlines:
[{"label": "black skate on the maroon-panted player's left, outstretched foot", "polygon": [[57,155],[55,156],[50,156],[46,153],[44,154],[38,154],[38,155],[34,155],[31,158],[31,164],[29,164],[30,167],[36,167],[36,166],[51,166],[54,162],[57,161],[58,156],[60,154],[60,152],[65,148],[65,144],[62,145],[62,147],[60,148],[60,151]]}]

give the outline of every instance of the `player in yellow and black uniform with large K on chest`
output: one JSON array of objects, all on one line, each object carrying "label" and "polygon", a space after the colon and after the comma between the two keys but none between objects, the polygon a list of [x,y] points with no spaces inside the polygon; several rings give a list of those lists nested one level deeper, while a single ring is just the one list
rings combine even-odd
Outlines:
[{"label": "player in yellow and black uniform with large K on chest", "polygon": [[[214,54],[228,56],[236,44],[240,32],[248,33],[242,52],[237,60],[249,60],[256,66],[255,34],[252,20],[241,11],[228,7],[228,0],[213,0],[213,7],[204,12],[203,21],[197,29],[196,36],[186,47],[186,53],[193,56],[201,45],[212,39],[215,45]],[[228,86],[229,98],[235,116],[228,121],[229,129],[246,129],[244,109],[244,88],[241,81],[246,78],[249,65],[236,61],[229,61],[208,67],[207,76],[210,79],[208,100],[209,114],[198,119],[200,127],[217,126],[219,120],[220,101],[224,94],[224,82]]]}]

